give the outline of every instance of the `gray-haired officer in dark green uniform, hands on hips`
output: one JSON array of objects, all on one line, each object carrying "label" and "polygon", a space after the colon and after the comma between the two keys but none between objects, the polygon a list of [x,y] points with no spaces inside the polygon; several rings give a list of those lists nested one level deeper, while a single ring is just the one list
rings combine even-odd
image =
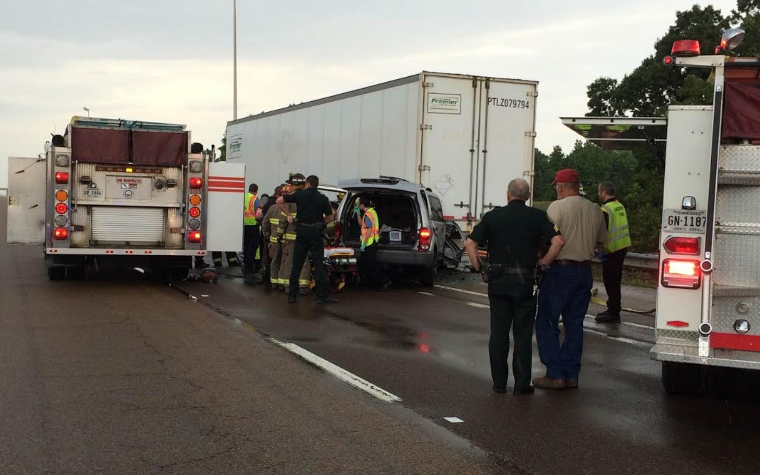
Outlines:
[{"label": "gray-haired officer in dark green uniform, hands on hips", "polygon": [[[534,282],[537,263],[549,266],[565,245],[562,236],[546,212],[526,206],[530,185],[521,178],[509,182],[507,206],[483,215],[464,244],[470,262],[478,272],[486,273],[488,298],[491,307],[491,336],[489,357],[493,390],[506,392],[509,368],[509,330],[515,349],[512,351],[512,370],[515,373],[515,395],[534,392],[530,386],[531,343],[536,318]],[[546,255],[538,259],[539,250],[550,242]],[[489,263],[481,269],[477,250],[487,245]]]}]

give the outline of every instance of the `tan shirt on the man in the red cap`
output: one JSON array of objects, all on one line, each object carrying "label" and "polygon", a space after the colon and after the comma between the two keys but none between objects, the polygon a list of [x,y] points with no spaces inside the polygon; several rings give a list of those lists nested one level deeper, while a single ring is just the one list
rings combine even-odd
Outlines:
[{"label": "tan shirt on the man in the red cap", "polygon": [[565,247],[557,259],[592,260],[594,250],[604,248],[607,227],[599,206],[584,197],[567,197],[556,200],[546,209],[549,218],[565,238]]}]

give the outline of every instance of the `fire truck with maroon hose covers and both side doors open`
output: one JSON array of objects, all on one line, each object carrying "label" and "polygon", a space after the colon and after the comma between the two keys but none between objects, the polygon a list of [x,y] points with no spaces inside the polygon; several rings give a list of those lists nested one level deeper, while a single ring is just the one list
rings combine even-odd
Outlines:
[{"label": "fire truck with maroon hose covers and both side doors open", "polygon": [[8,159],[8,244],[43,244],[51,280],[125,264],[169,277],[242,249],[245,165],[182,124],[75,116],[46,153]]}]

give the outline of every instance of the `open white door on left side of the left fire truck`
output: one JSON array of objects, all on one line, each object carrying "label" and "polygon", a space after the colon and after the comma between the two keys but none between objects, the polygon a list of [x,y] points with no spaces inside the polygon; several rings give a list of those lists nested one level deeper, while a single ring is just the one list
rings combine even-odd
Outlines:
[{"label": "open white door on left side of the left fire truck", "polygon": [[46,159],[8,158],[8,244],[45,241]]}]

